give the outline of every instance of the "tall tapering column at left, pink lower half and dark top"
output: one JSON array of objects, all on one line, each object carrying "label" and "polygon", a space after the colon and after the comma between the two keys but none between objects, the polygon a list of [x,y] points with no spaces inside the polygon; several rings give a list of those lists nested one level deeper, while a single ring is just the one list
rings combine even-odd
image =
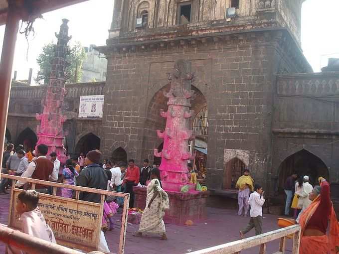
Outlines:
[{"label": "tall tapering column at left, pink lower half and dark top", "polygon": [[40,120],[40,125],[36,132],[38,136],[38,144],[46,144],[48,146],[48,154],[56,152],[61,162],[66,161],[65,149],[62,141],[67,133],[63,130],[63,123],[66,117],[62,114],[62,106],[65,96],[65,82],[67,79],[66,67],[70,64],[66,61],[68,54],[67,43],[71,39],[68,36],[67,19],[62,19],[59,34],[55,33],[58,38],[57,44],[54,46],[54,58],[52,61],[52,70],[49,77],[47,93],[42,100],[43,113],[36,114],[36,119]]}]

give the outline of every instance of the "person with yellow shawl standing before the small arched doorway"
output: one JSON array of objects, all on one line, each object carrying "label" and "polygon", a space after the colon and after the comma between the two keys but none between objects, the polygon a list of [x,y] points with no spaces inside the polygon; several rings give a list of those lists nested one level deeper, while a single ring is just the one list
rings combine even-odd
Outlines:
[{"label": "person with yellow shawl standing before the small arched doorway", "polygon": [[[239,205],[239,216],[247,216],[248,214],[248,198],[250,196],[250,192],[254,191],[254,180],[250,176],[250,170],[246,168],[244,170],[244,175],[240,176],[238,181],[235,184],[235,188],[239,189],[238,193],[238,205]],[[243,213],[244,211],[244,213]]]}]

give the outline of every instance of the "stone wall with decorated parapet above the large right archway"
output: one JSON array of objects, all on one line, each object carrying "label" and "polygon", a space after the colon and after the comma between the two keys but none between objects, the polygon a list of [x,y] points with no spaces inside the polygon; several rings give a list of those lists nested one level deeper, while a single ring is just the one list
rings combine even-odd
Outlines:
[{"label": "stone wall with decorated parapet above the large right archway", "polygon": [[339,183],[339,73],[279,76],[274,100],[272,188],[280,164],[301,150],[320,158]]}]

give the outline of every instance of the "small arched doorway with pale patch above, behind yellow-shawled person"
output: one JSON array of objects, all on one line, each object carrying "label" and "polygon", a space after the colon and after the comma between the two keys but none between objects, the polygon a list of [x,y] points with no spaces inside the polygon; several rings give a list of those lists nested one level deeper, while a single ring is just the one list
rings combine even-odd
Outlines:
[{"label": "small arched doorway with pale patch above, behind yellow-shawled person", "polygon": [[223,189],[234,189],[238,178],[244,174],[245,168],[245,163],[238,158],[228,161],[224,170]]}]

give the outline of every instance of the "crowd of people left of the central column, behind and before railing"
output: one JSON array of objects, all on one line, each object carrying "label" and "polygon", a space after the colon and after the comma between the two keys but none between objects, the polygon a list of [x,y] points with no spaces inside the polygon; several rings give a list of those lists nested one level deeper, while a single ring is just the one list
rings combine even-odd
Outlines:
[{"label": "crowd of people left of the central column, behind and before railing", "polygon": [[[47,153],[48,147],[45,144],[37,145],[36,150],[30,154],[23,151],[22,145],[18,145],[14,152],[14,145],[8,144],[3,152],[2,172],[38,180],[59,181],[67,185],[126,192],[130,194],[129,208],[134,205],[133,187],[138,185],[145,186],[149,182],[147,187],[147,206],[142,216],[140,229],[134,235],[142,236],[143,233],[155,233],[161,234],[161,239],[167,239],[163,216],[165,215],[165,210],[169,208],[169,198],[162,189],[159,164],[151,167],[148,159],[144,160],[141,168],[135,164],[133,159],[128,161],[128,165],[124,161],[112,162],[105,160],[104,163],[101,163],[101,152],[92,150],[86,156],[81,153],[79,157],[67,159],[64,168],[61,170],[57,154],[52,152],[47,158]],[[59,174],[61,171],[62,174]],[[0,183],[1,193],[7,193],[6,188],[9,187],[9,184],[6,178],[2,178]],[[39,197],[38,193],[52,194],[52,189],[49,186],[36,184],[35,190],[31,191],[29,190],[31,186],[27,185],[24,180],[18,180],[15,187],[28,189],[23,192],[25,194],[20,195],[21,199],[17,201],[19,204],[17,205],[17,212],[22,214],[20,216],[21,220],[28,216],[30,220],[34,219],[40,225],[40,228],[45,229],[39,234],[29,228],[23,229],[23,232],[30,232],[32,236],[55,242],[54,236],[50,235],[50,229],[48,225],[46,226],[43,216],[36,205]],[[61,188],[61,196],[74,198],[75,193],[72,189],[63,187]],[[79,199],[101,203],[101,195],[90,192],[80,192]],[[104,202],[104,214],[101,222],[103,232],[114,229],[113,215],[123,204],[123,198],[107,197]],[[24,209],[20,210],[20,207],[24,207]],[[33,224],[30,224],[30,227],[32,226]],[[100,238],[99,246],[102,251],[109,252],[104,236]],[[15,250],[12,250],[12,253],[15,253]]]}]

